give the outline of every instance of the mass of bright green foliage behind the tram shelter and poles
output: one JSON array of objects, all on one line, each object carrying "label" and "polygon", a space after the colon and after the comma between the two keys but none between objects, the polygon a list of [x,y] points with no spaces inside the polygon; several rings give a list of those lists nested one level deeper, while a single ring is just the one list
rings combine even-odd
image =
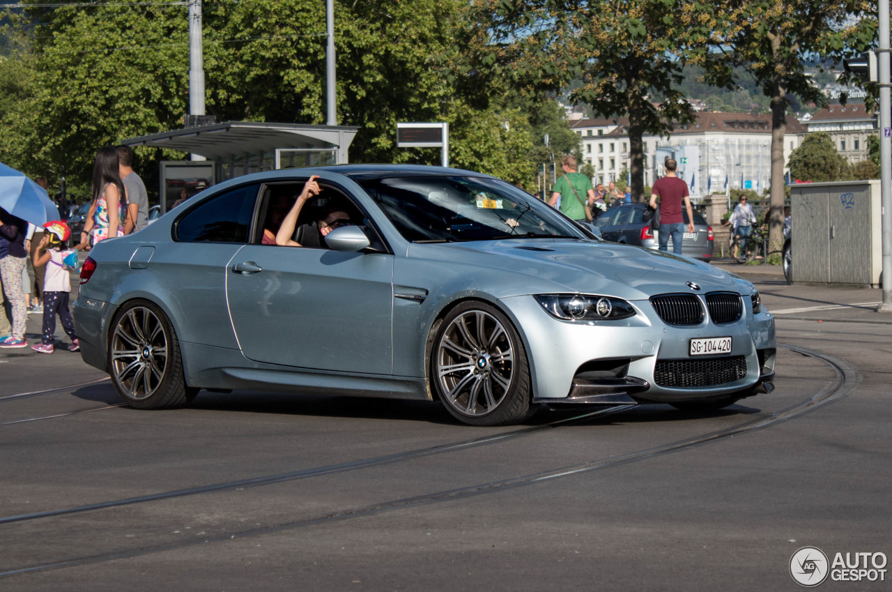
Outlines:
[{"label": "mass of bright green foliage behind the tram shelter and poles", "polygon": [[[396,123],[449,121],[451,164],[515,182],[534,178],[533,129],[542,124],[508,104],[504,92],[489,95],[475,84],[459,51],[470,30],[464,4],[335,4],[337,119],[359,128],[353,162],[439,163],[439,151],[397,148]],[[100,146],[182,127],[189,108],[186,6],[110,0],[34,8],[12,19],[17,30],[39,26],[29,53],[0,64],[4,163],[51,179],[64,170],[70,188],[85,191]],[[325,27],[315,0],[205,4],[207,113],[218,121],[325,123]],[[560,136],[556,127],[552,135]],[[183,157],[137,149],[150,179],[156,160]]]}]

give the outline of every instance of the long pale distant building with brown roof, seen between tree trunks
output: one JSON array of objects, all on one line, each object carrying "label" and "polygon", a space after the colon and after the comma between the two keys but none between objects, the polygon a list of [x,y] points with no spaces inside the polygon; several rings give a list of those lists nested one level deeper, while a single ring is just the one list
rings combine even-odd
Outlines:
[{"label": "long pale distant building with brown roof, seen between tree trunks", "polygon": [[[629,166],[627,118],[570,121],[571,129],[582,138],[582,159],[591,163],[595,180],[607,183],[618,179]],[[805,126],[787,118],[784,163],[805,136]],[[726,188],[751,188],[763,193],[771,183],[771,115],[749,113],[697,113],[695,121],[675,126],[671,137],[646,134],[644,142],[644,184],[653,185],[663,175],[657,163],[657,148],[696,146],[698,158],[690,159],[683,177],[693,185],[695,201]],[[727,185],[726,185],[727,182]]]}]

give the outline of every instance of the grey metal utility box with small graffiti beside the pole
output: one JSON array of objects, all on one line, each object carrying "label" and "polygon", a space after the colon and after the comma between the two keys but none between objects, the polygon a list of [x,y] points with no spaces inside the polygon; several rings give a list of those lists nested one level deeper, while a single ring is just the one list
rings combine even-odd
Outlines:
[{"label": "grey metal utility box with small graffiti beside the pole", "polygon": [[791,185],[790,213],[794,283],[879,287],[879,180]]}]

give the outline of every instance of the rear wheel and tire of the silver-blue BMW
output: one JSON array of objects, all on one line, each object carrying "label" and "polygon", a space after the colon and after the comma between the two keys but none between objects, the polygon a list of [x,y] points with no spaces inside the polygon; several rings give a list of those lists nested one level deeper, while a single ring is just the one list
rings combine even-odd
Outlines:
[{"label": "rear wheel and tire of the silver-blue BMW", "polygon": [[108,367],[118,395],[136,409],[181,407],[198,393],[186,386],[173,326],[145,300],[124,304],[111,321]]}]

